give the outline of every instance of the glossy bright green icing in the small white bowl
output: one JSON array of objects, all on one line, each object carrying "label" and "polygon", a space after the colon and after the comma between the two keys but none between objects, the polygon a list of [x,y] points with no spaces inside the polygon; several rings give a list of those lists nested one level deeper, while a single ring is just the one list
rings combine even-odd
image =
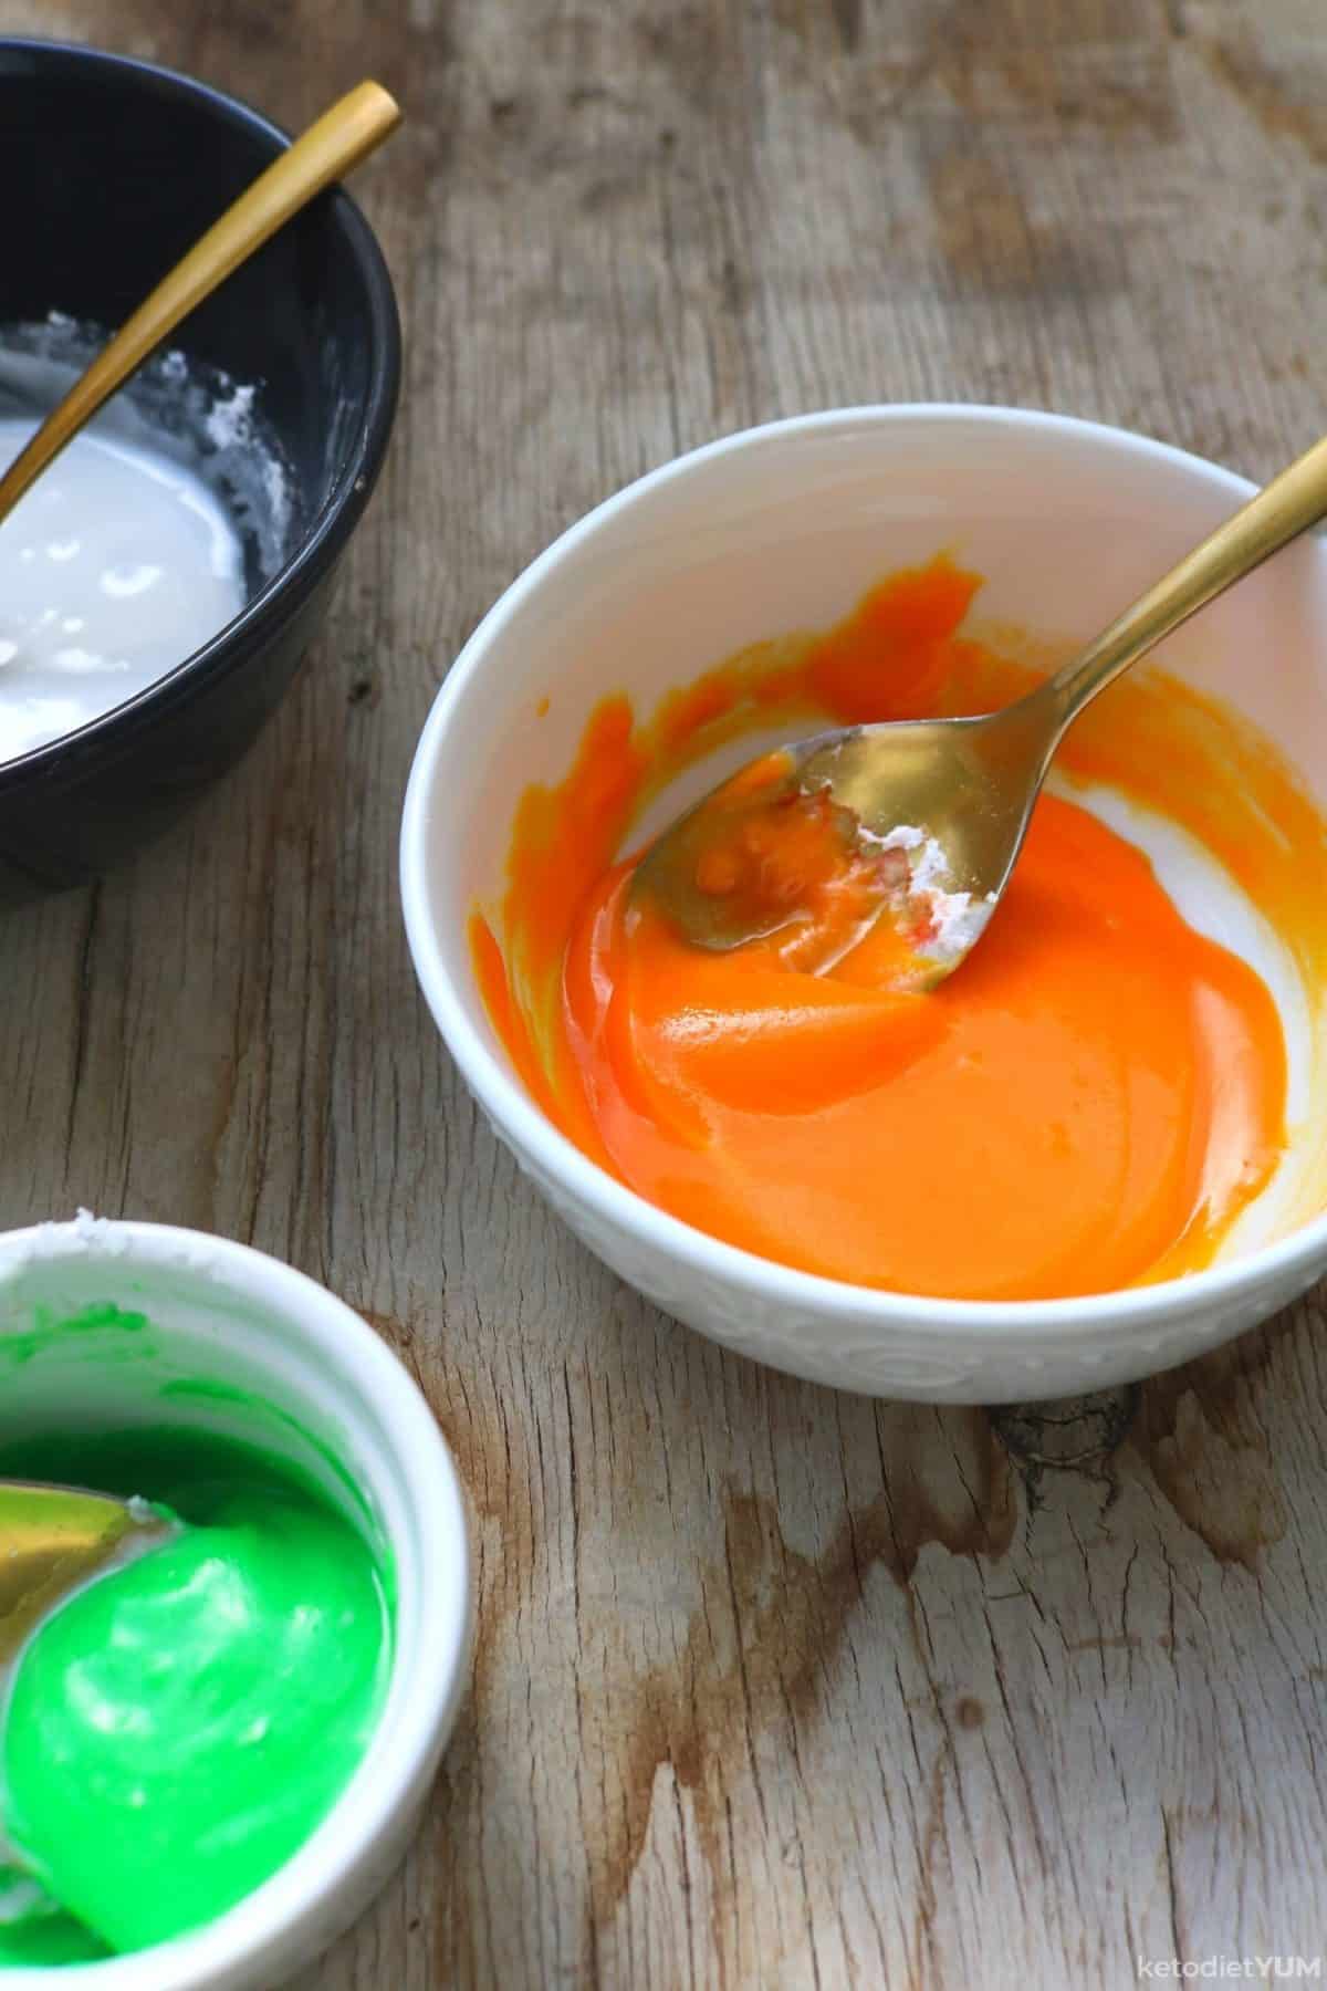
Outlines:
[{"label": "glossy bright green icing in the small white bowl", "polygon": [[388,1559],[312,1475],[199,1428],[46,1434],[0,1447],[6,1475],[185,1523],[38,1627],[0,1736],[0,1816],[52,1897],[6,1921],[0,1893],[0,1965],[139,1949],[233,1907],[346,1786],[390,1670]]}]

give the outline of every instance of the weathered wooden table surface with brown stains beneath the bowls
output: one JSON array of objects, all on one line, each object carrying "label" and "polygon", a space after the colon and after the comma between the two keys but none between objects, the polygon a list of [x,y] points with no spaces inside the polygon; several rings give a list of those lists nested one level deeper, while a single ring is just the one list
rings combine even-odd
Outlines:
[{"label": "weathered wooden table surface with brown stains beneath the bowls", "polygon": [[84,1203],[292,1260],[420,1378],[474,1497],[428,1824],[300,1991],[1327,1975],[1323,1296],[1013,1414],[728,1358],[517,1179],[396,898],[448,661],[676,450],[1001,400],[1257,476],[1327,426],[1323,0],[8,0],[0,28],[290,125],[366,72],[408,110],[356,179],[406,392],[330,625],[185,826],[2,942],[0,1222]]}]

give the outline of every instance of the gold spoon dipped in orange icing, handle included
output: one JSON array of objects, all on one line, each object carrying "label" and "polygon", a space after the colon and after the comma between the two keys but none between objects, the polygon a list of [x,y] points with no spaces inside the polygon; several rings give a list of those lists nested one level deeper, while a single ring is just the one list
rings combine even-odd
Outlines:
[{"label": "gold spoon dipped in orange icing, handle included", "polygon": [[[927,982],[943,980],[967,958],[995,912],[1050,757],[1078,713],[1196,609],[1323,514],[1327,438],[1218,526],[1027,697],[981,719],[921,719],[820,733],[788,749],[788,773],[768,790],[770,796],[828,790],[830,800],[850,812],[850,832],[865,828],[873,836],[889,836],[907,826],[939,844],[947,868],[939,884],[971,894],[961,936],[923,962]],[[800,908],[774,914],[768,906],[752,906],[750,894],[702,890],[696,854],[704,850],[710,824],[722,822],[722,810],[714,806],[718,794],[722,788],[704,796],[649,848],[633,892],[649,892],[694,946],[726,950],[792,924]]]}]

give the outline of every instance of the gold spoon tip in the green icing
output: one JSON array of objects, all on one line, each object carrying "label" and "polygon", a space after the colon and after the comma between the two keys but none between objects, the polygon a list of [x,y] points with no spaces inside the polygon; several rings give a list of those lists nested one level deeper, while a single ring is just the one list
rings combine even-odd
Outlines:
[{"label": "gold spoon tip in the green icing", "polygon": [[76,1583],[167,1531],[145,1501],[0,1479],[0,1664]]}]

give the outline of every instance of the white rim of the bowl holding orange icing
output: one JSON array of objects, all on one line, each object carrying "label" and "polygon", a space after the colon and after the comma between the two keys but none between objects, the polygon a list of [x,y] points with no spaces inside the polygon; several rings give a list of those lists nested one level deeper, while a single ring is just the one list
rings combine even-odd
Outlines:
[{"label": "white rim of the bowl holding orange icing", "polygon": [[483,669],[491,643],[569,553],[666,484],[692,476],[716,458],[760,450],[772,442],[782,444],[798,436],[814,438],[861,426],[901,428],[905,424],[1037,430],[1044,436],[1090,442],[1118,456],[1142,456],[1172,468],[1200,472],[1208,484],[1228,492],[1235,502],[1257,490],[1237,472],[1190,450],[1082,416],[989,402],[865,402],[736,430],[670,458],[605,498],[559,534],[489,607],[442,681],[414,753],[400,830],[402,912],[414,970],[444,1043],[479,1105],[515,1149],[517,1159],[529,1157],[537,1169],[565,1187],[605,1224],[639,1238],[647,1248],[678,1260],[692,1272],[724,1286],[742,1288],[756,1302],[802,1308],[820,1318],[869,1324],[881,1334],[905,1328],[947,1328],[951,1332],[969,1330],[973,1338],[1003,1334],[1029,1348],[1043,1348],[1048,1344],[1064,1346],[1064,1342],[1100,1342],[1102,1330],[1110,1330],[1110,1338],[1128,1340],[1138,1328],[1166,1320],[1176,1310],[1230,1308],[1232,1302],[1271,1282],[1293,1284],[1299,1274],[1303,1274],[1303,1284],[1309,1284],[1317,1264],[1327,1254],[1327,1213],[1230,1264],[1208,1266],[1150,1286],[1078,1294],[1064,1300],[947,1300],[931,1294],[855,1286],[848,1280],[780,1264],[774,1258],[760,1258],[756,1252],[726,1244],[722,1238],[661,1211],[583,1155],[567,1135],[545,1119],[515,1073],[507,1069],[466,1013],[430,912],[430,818],[436,769],[448,745],[452,715],[468,685]]}]

